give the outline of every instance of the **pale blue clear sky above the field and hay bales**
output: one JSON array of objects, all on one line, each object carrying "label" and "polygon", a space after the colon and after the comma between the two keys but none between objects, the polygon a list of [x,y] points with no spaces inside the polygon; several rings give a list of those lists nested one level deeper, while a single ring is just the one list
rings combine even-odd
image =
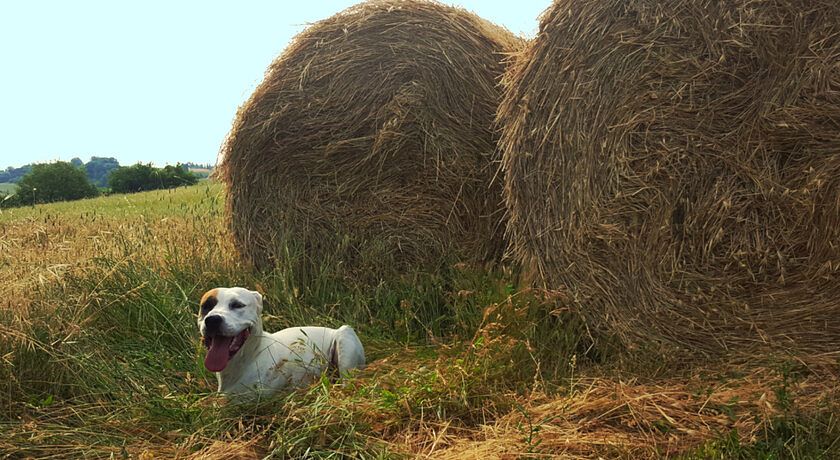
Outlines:
[{"label": "pale blue clear sky above the field and hay bales", "polygon": [[[307,24],[357,2],[0,1],[0,169],[79,157],[215,163]],[[551,0],[452,0],[533,36]]]}]

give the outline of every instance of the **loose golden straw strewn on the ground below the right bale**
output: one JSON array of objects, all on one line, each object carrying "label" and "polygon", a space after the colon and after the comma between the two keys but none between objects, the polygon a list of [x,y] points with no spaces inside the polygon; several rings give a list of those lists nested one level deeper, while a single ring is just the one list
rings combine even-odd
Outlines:
[{"label": "loose golden straw strewn on the ground below the right bale", "polygon": [[[837,397],[831,372],[784,387],[783,377],[767,368],[731,370],[746,372],[725,383],[720,369],[711,370],[712,381],[583,378],[569,396],[531,395],[520,410],[471,435],[461,433],[433,457],[670,458],[727,433],[743,445],[754,444],[782,416],[785,404],[818,412]],[[781,388],[791,401],[779,401]]]}]

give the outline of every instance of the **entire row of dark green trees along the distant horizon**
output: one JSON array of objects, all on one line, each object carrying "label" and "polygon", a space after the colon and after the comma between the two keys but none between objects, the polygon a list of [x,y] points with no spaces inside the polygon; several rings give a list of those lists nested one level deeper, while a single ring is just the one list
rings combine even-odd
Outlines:
[{"label": "entire row of dark green trees along the distant horizon", "polygon": [[[78,159],[74,158],[70,162],[27,165],[27,171],[16,181],[17,191],[9,195],[0,195],[0,206],[15,207],[78,200],[92,198],[103,192],[134,193],[174,188],[193,185],[199,179],[180,164],[155,168],[140,163],[133,166],[119,166],[117,163],[116,167],[110,167],[116,162],[113,158],[108,159],[113,162],[94,162],[94,159],[97,157],[87,164],[80,164],[81,160],[75,161]],[[99,178],[103,170],[107,170],[104,177],[107,189],[104,190],[100,189],[102,186],[99,185],[102,184]],[[8,171],[9,169],[6,170]]]}]

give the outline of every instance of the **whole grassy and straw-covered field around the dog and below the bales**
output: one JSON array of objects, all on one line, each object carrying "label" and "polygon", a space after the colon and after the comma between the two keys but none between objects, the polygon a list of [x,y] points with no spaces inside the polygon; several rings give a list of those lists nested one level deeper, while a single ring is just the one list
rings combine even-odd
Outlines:
[{"label": "whole grassy and straw-covered field around the dog and below the bales", "polygon": [[[223,201],[204,182],[0,213],[0,458],[840,456],[837,355],[617,349],[510,270],[305,287],[241,263]],[[218,285],[260,289],[269,330],[353,325],[370,365],[228,404],[195,326]]]}]

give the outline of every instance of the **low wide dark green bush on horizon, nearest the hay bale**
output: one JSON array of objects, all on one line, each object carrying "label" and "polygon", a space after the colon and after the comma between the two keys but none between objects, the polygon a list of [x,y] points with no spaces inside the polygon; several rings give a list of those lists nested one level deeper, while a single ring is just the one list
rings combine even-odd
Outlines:
[{"label": "low wide dark green bush on horizon, nearest the hay bale", "polygon": [[154,168],[140,163],[117,168],[108,178],[111,191],[115,193],[175,188],[197,182],[198,177],[181,165]]}]

